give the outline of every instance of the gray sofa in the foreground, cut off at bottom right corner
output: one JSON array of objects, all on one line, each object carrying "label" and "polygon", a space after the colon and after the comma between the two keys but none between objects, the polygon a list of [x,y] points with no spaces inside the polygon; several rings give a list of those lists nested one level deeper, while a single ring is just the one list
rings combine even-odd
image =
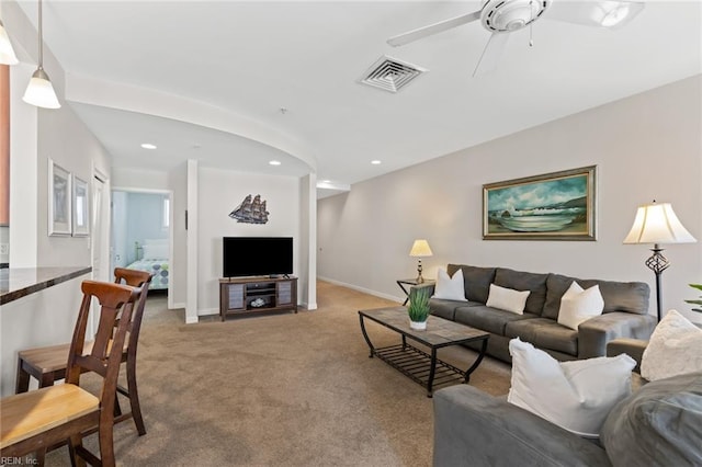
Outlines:
[{"label": "gray sofa in the foreground, cut off at bottom right corner", "polygon": [[[643,349],[620,340],[608,354]],[[702,465],[702,373],[643,384],[610,411],[599,442],[468,385],[435,391],[433,407],[434,467]]]}]

